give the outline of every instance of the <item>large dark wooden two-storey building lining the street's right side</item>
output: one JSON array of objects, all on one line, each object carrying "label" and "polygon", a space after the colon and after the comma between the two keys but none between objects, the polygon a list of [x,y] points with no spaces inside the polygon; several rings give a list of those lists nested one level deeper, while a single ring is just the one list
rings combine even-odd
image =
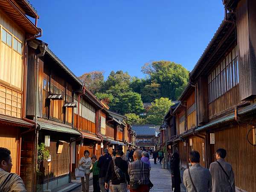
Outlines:
[{"label": "large dark wooden two-storey building lining the street's right side", "polygon": [[256,1],[224,0],[225,17],[190,73],[176,117],[181,166],[197,150],[209,168],[218,148],[235,174],[236,191],[256,192]]}]

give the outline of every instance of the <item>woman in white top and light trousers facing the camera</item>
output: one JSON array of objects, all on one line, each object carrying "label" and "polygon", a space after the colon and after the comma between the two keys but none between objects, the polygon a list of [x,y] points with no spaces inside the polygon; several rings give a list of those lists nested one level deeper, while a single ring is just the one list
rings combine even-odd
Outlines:
[{"label": "woman in white top and light trousers facing the camera", "polygon": [[84,183],[84,177],[81,177],[81,183],[82,183],[82,191],[83,192],[89,192],[89,177],[90,177],[90,167],[92,166],[92,160],[89,157],[90,152],[88,150],[84,151],[84,157],[82,157],[79,161],[79,169],[84,170],[85,174],[85,183]]}]

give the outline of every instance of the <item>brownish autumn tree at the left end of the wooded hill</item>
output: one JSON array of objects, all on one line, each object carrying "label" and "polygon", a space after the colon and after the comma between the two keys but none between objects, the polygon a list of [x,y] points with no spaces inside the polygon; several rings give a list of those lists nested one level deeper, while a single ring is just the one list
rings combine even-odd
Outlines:
[{"label": "brownish autumn tree at the left end of the wooded hill", "polygon": [[98,92],[103,83],[104,76],[102,71],[92,71],[90,73],[84,73],[79,79],[84,83],[84,85],[92,92]]}]

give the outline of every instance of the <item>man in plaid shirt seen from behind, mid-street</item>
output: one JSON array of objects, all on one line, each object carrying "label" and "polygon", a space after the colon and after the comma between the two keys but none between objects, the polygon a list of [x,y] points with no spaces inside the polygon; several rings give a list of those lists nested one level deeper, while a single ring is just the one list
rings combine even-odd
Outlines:
[{"label": "man in plaid shirt seen from behind, mid-street", "polygon": [[149,166],[141,161],[142,152],[134,151],[134,162],[128,165],[128,174],[130,175],[130,192],[149,192]]}]

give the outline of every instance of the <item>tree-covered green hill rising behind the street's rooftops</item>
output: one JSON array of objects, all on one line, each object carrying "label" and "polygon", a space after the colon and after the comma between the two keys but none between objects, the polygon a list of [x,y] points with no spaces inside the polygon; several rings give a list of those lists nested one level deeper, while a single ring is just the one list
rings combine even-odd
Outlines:
[{"label": "tree-covered green hill rising behind the street's rooftops", "polygon": [[[128,116],[130,123],[160,125],[164,114],[179,98],[189,79],[189,71],[171,61],[154,61],[141,67],[145,78],[127,72],[111,71],[107,80],[100,71],[84,73],[79,78],[112,111]],[[143,103],[152,103],[147,111]],[[145,113],[146,115],[139,116]]]}]

